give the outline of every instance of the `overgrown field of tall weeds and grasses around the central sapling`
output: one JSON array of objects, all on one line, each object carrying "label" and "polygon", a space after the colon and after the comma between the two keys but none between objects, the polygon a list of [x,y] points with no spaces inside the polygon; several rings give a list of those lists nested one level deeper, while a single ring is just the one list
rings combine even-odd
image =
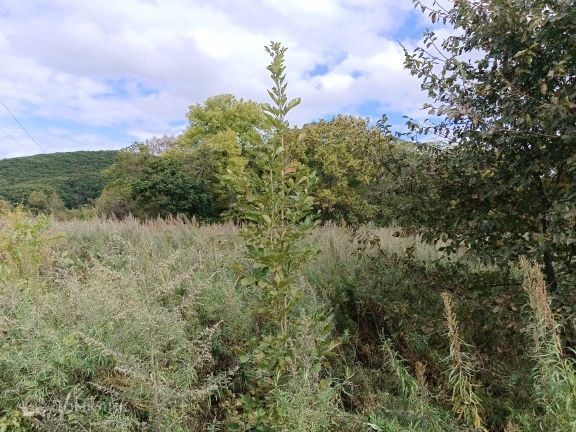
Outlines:
[{"label": "overgrown field of tall weeds and grasses around the central sapling", "polygon": [[[449,261],[397,235],[313,233],[271,430],[575,430],[574,302],[552,302],[559,338],[528,264]],[[16,210],[0,244],[0,430],[248,430],[243,354],[263,317],[235,226]]]}]

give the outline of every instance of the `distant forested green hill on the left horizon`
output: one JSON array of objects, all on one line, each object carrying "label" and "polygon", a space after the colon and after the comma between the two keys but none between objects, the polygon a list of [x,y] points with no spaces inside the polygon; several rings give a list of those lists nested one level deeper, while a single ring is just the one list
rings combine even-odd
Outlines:
[{"label": "distant forested green hill on the left horizon", "polygon": [[0,198],[26,203],[33,191],[56,192],[68,208],[88,203],[100,195],[117,151],[77,151],[0,160]]}]

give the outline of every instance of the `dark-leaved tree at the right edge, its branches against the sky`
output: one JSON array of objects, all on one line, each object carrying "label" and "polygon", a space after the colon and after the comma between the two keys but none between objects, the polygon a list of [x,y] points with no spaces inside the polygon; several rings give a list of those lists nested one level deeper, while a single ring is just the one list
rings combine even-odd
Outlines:
[{"label": "dark-leaved tree at the right edge, its branches against the sky", "polygon": [[444,138],[435,159],[438,200],[422,203],[428,238],[495,261],[520,255],[573,271],[576,257],[576,4],[567,0],[436,1],[432,22],[455,33],[406,52]]}]

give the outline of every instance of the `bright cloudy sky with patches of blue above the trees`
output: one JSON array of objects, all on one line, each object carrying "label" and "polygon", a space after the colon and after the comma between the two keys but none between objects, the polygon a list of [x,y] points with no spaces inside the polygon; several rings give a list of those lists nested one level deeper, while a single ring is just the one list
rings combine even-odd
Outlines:
[{"label": "bright cloudy sky with patches of blue above the trees", "polygon": [[0,0],[0,158],[116,149],[176,134],[191,104],[265,101],[263,46],[289,47],[294,124],[336,113],[393,123],[424,96],[400,42],[427,21],[410,0]]}]

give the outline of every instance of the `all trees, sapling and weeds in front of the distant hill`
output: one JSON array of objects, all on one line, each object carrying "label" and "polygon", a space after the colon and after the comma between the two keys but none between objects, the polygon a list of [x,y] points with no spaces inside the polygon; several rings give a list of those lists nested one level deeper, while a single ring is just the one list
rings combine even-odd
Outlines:
[{"label": "all trees, sapling and weeds in front of the distant hill", "polygon": [[576,430],[566,3],[415,1],[445,142],[290,128],[273,42],[271,103],[119,152],[106,217],[1,202],[0,431]]}]

